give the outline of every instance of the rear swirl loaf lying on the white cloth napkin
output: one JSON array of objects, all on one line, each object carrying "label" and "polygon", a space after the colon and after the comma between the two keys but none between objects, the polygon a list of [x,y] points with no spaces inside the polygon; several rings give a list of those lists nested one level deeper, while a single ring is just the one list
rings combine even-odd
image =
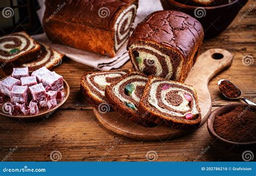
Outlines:
[{"label": "rear swirl loaf lying on the white cloth napkin", "polygon": [[138,0],[46,0],[45,6],[44,31],[51,41],[114,57],[130,36]]}]

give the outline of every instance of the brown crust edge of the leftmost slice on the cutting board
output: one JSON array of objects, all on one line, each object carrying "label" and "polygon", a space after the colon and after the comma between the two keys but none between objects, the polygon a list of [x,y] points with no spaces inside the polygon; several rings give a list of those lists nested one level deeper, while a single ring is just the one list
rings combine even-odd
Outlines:
[{"label": "brown crust edge of the leftmost slice on the cutting board", "polygon": [[95,95],[95,91],[92,89],[92,87],[90,87],[89,83],[86,81],[86,76],[97,74],[97,73],[106,73],[107,74],[107,73],[117,73],[117,72],[129,73],[129,72],[131,72],[131,69],[123,68],[123,69],[115,69],[115,70],[111,70],[111,71],[88,72],[82,76],[82,78],[80,80],[80,90],[84,94],[84,96],[89,104],[93,105],[94,107],[97,107],[100,103],[107,103],[107,101],[106,101],[105,97],[100,98]]}]

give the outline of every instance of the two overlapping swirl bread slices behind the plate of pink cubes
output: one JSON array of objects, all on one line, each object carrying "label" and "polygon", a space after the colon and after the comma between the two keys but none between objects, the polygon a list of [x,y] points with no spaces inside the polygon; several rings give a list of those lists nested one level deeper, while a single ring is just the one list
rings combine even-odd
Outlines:
[{"label": "two overlapping swirl bread slices behind the plate of pink cubes", "polygon": [[63,54],[38,43],[26,32],[0,37],[0,67],[6,74],[17,67],[28,67],[31,72],[43,66],[51,69],[60,65],[63,57]]}]

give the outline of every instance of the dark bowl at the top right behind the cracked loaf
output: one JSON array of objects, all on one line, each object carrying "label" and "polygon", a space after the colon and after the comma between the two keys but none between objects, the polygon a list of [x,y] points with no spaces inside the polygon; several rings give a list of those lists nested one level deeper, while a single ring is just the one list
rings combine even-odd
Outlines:
[{"label": "dark bowl at the top right behind the cracked loaf", "polygon": [[223,32],[237,16],[248,0],[234,0],[217,6],[192,6],[174,0],[160,0],[164,10],[178,10],[197,18],[204,27],[205,38],[212,38]]}]

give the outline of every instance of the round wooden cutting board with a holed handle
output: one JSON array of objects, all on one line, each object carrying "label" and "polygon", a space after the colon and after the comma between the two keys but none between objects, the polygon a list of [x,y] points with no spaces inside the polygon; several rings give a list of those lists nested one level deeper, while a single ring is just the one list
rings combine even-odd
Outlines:
[{"label": "round wooden cutting board with a holed handle", "polygon": [[[212,100],[208,90],[208,82],[219,72],[228,68],[232,64],[233,56],[230,52],[223,49],[211,49],[201,54],[196,64],[187,76],[185,83],[192,85],[198,94],[199,107],[201,109],[202,125],[211,113]],[[217,82],[216,82],[217,86]],[[107,129],[138,140],[166,140],[191,133],[194,129],[171,129],[167,126],[158,125],[152,128],[146,128],[134,124],[118,112],[108,112],[101,114],[93,108],[98,121]]]}]

